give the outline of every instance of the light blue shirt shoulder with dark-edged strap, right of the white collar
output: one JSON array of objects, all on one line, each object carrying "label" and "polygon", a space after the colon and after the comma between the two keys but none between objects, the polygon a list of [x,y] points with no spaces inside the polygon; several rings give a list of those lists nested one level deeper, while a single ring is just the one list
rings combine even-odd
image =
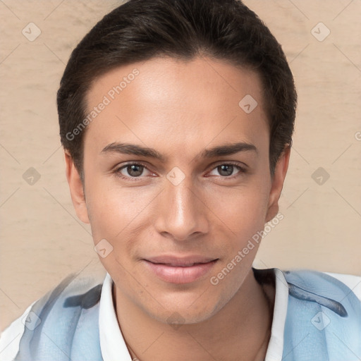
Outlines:
[{"label": "light blue shirt shoulder with dark-edged strap, right of the white collar", "polygon": [[360,277],[310,269],[283,275],[288,284],[283,359],[360,360],[355,357],[361,355]]}]

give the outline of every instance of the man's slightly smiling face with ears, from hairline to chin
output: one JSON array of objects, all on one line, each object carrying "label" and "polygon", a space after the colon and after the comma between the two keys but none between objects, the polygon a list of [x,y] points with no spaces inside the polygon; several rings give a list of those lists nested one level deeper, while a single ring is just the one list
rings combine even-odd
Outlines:
[{"label": "man's slightly smiling face with ears, from hairline to chin", "polygon": [[278,212],[286,176],[287,154],[270,175],[258,75],[212,59],[151,59],[102,75],[87,104],[85,197],[68,155],[67,176],[116,297],[162,322],[212,317],[250,271],[259,243],[236,256]]}]

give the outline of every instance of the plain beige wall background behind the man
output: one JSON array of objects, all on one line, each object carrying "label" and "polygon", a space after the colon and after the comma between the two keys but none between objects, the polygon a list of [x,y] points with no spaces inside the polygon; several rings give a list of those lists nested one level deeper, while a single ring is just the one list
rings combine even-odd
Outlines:
[{"label": "plain beige wall background behind the man", "polygon": [[[283,44],[299,94],[284,219],[264,238],[255,267],[360,275],[361,1],[245,3]],[[1,329],[69,273],[101,269],[71,204],[55,96],[73,47],[118,4],[0,2]],[[33,42],[22,34],[31,22],[41,30]],[[319,22],[331,31],[322,42],[312,35]],[[30,167],[41,175],[34,185],[23,179]],[[319,167],[330,176],[322,185],[312,178]]]}]

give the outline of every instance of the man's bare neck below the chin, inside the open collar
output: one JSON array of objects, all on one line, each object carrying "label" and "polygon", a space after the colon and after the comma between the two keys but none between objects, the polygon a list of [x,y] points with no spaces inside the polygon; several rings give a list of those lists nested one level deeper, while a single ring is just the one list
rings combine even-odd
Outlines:
[{"label": "man's bare neck below the chin, inside the open collar", "polygon": [[133,360],[264,360],[274,287],[262,288],[252,269],[233,298],[214,316],[178,328],[150,317],[117,288],[114,291],[118,324]]}]

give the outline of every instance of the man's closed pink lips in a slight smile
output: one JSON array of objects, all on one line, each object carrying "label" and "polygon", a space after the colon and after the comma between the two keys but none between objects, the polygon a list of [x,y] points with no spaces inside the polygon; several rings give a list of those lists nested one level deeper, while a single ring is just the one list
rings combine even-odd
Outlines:
[{"label": "man's closed pink lips in a slight smile", "polygon": [[191,283],[207,274],[218,259],[203,256],[159,256],[143,259],[152,274],[169,283]]}]

